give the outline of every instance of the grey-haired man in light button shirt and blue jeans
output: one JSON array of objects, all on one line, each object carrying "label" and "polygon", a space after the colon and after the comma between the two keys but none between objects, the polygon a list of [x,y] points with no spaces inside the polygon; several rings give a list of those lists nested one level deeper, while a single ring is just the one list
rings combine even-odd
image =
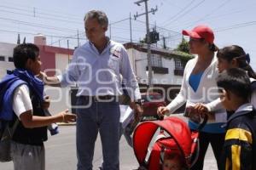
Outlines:
[{"label": "grey-haired man in light button shirt and blue jeans", "polygon": [[[141,94],[125,48],[106,37],[108,17],[92,10],[84,17],[89,42],[77,48],[68,70],[58,77],[42,76],[46,84],[65,87],[77,82],[77,156],[78,170],[92,169],[97,133],[102,139],[103,170],[119,170],[119,103],[121,82],[134,105],[140,107]],[[120,77],[123,77],[123,79]]]}]

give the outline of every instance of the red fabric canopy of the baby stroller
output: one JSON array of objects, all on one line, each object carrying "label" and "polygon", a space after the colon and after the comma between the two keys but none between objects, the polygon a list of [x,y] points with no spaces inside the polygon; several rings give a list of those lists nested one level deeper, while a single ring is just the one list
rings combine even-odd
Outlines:
[{"label": "red fabric canopy of the baby stroller", "polygon": [[143,122],[135,129],[133,149],[140,165],[143,165],[148,153],[148,146],[159,127],[172,137],[184,158],[191,156],[193,141],[187,122],[183,122],[182,119],[175,116],[170,116],[162,121]]}]

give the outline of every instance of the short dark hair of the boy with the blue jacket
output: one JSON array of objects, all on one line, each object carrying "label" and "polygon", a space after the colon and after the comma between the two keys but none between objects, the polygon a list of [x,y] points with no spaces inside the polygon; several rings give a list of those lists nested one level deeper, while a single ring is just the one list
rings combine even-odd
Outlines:
[{"label": "short dark hair of the boy with the blue jacket", "polygon": [[18,69],[26,68],[27,59],[35,60],[39,55],[39,48],[33,43],[22,43],[14,49],[14,63]]}]

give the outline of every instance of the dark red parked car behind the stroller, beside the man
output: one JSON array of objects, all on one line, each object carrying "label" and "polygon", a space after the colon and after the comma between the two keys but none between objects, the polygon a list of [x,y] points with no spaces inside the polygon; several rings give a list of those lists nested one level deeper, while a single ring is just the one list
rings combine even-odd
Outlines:
[{"label": "dark red parked car behind the stroller, beside the man", "polygon": [[163,96],[156,92],[142,93],[142,99],[143,116],[157,116],[157,108],[166,105]]}]

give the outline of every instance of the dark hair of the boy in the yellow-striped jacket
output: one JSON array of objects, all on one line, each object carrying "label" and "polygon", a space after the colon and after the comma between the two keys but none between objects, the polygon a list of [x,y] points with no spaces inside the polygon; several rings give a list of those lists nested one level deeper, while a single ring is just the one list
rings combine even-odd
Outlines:
[{"label": "dark hair of the boy in the yellow-striped jacket", "polygon": [[242,99],[249,99],[251,82],[247,72],[240,68],[231,68],[221,72],[217,79],[219,88],[224,88]]}]

